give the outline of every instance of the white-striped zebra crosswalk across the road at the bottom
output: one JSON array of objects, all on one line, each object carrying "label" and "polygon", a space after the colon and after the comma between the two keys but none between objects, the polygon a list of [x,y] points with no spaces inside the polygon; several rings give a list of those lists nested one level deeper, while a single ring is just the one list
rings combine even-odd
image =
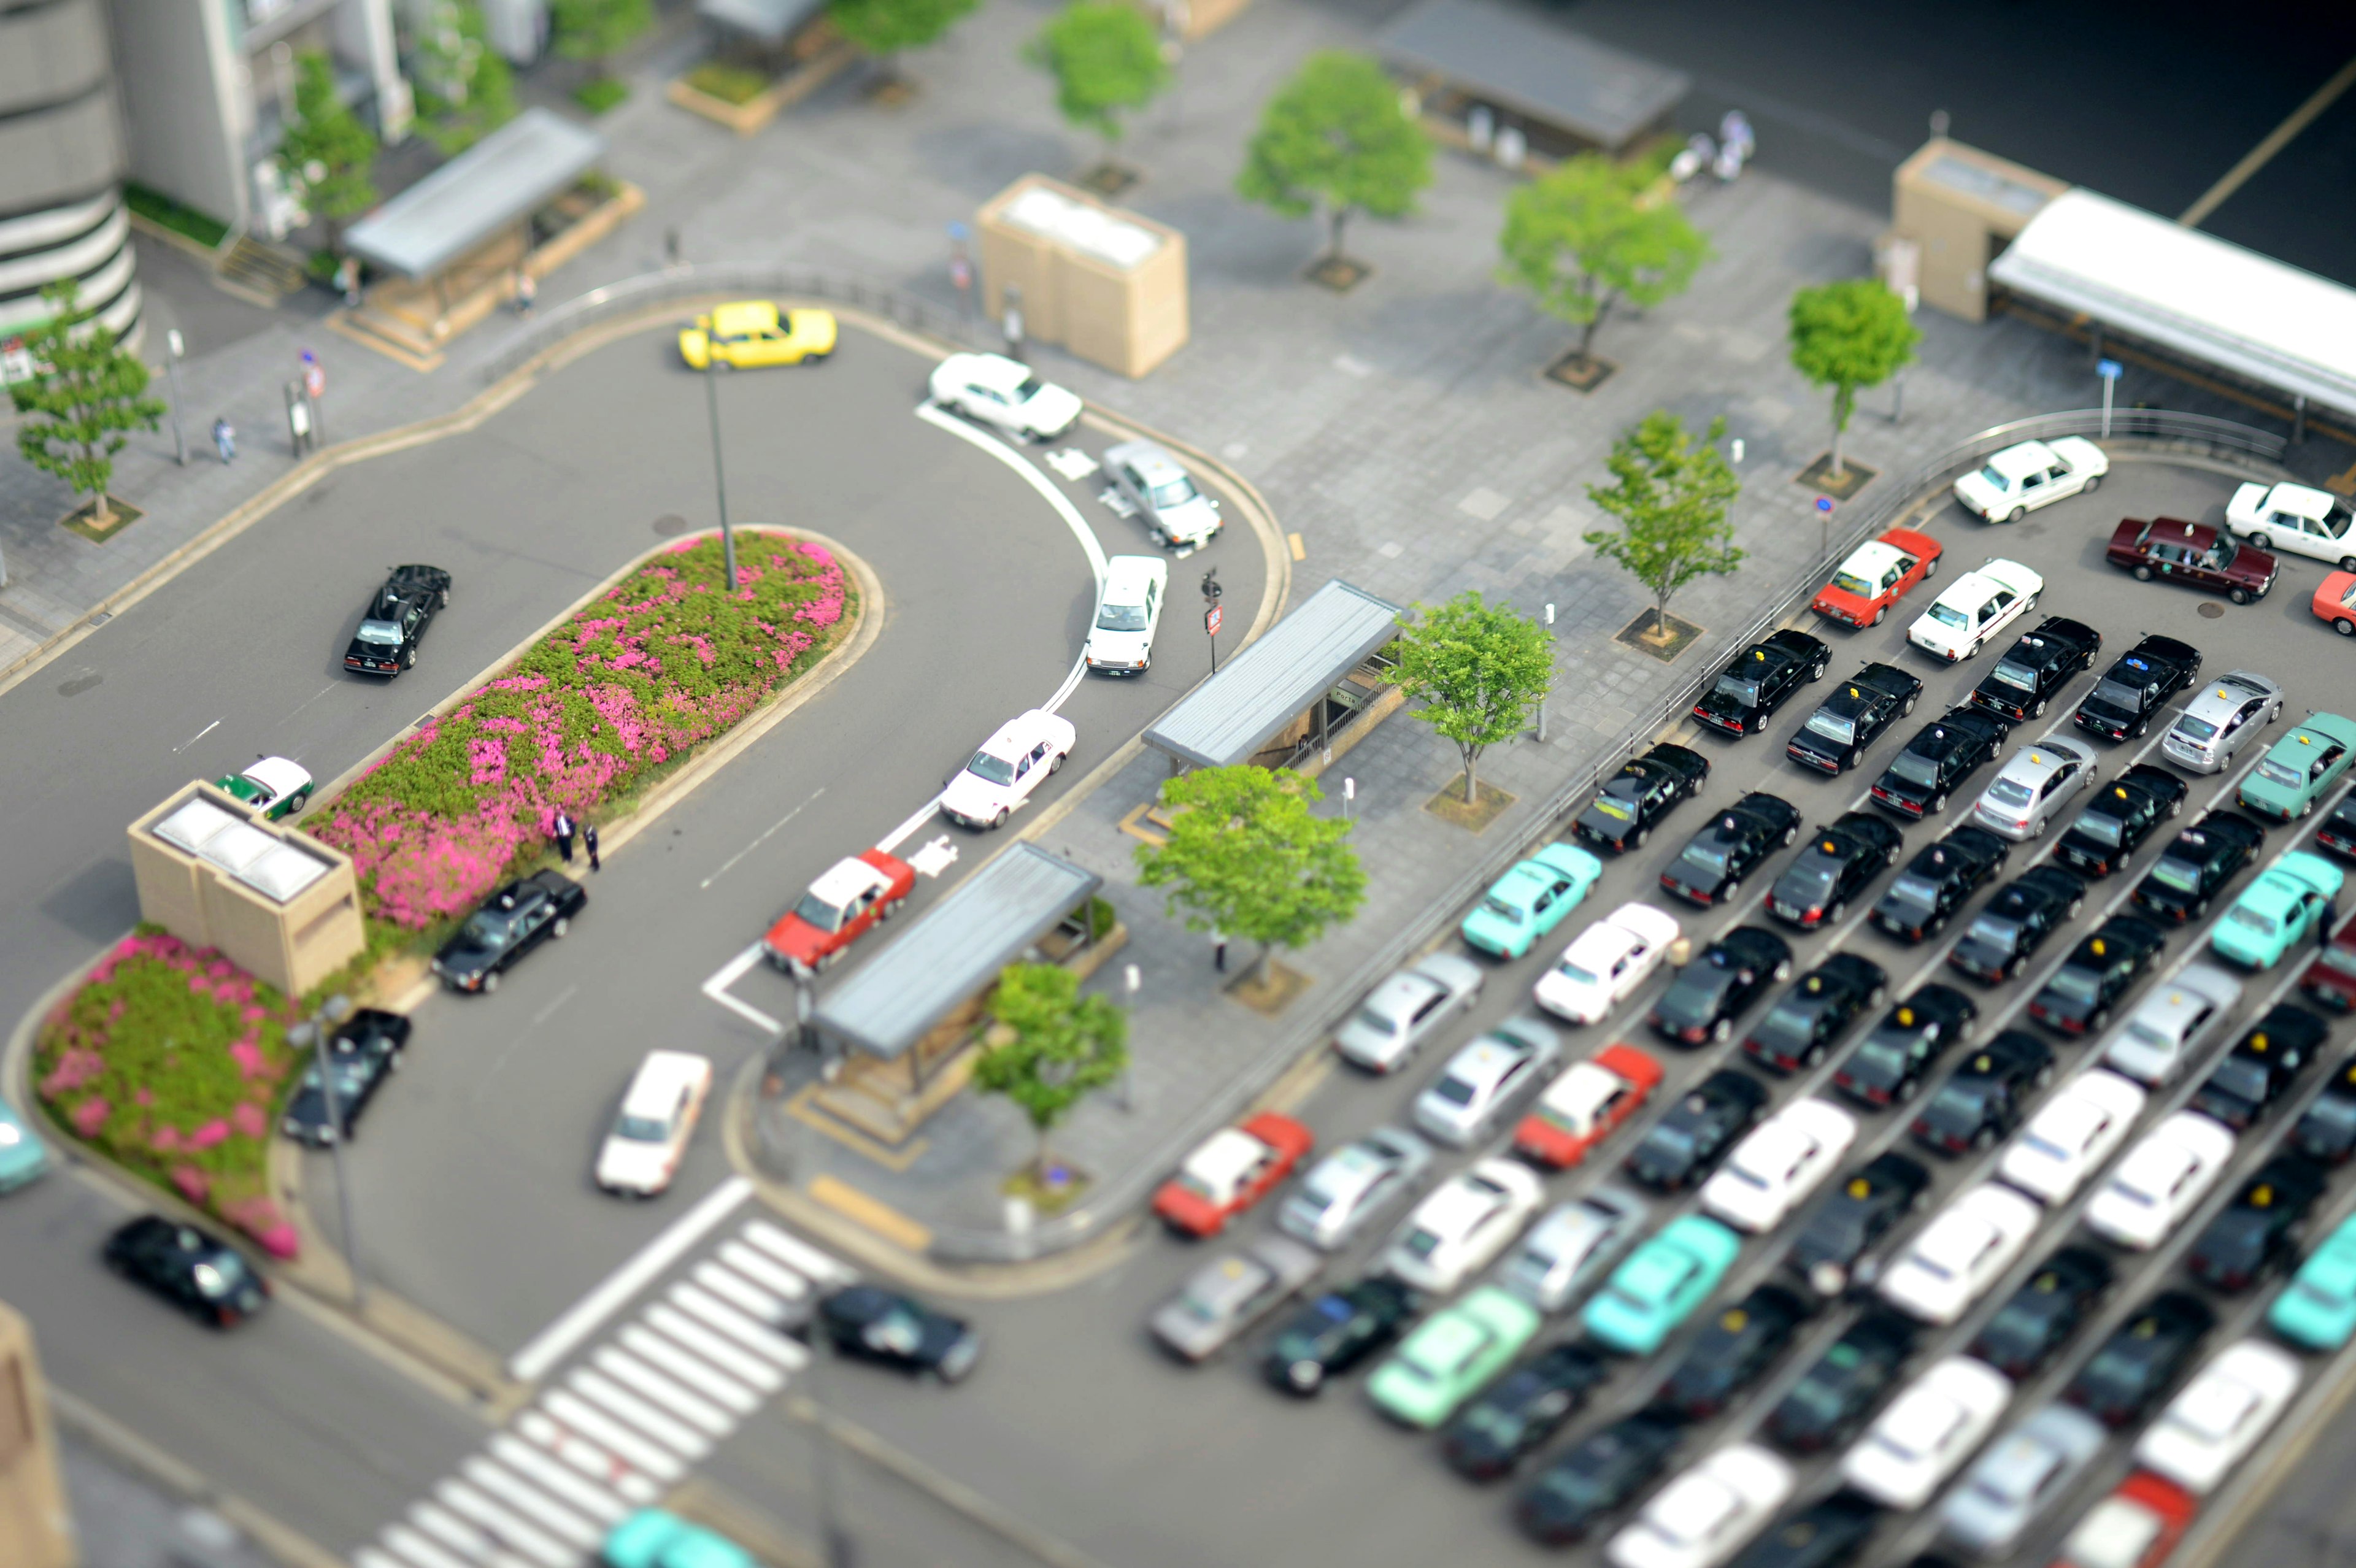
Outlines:
[{"label": "white-striped zebra crosswalk across the road at the bottom", "polygon": [[620,1519],[785,1391],[810,1351],[777,1326],[853,1278],[782,1227],[747,1220],[384,1526],[353,1568],[582,1568]]}]

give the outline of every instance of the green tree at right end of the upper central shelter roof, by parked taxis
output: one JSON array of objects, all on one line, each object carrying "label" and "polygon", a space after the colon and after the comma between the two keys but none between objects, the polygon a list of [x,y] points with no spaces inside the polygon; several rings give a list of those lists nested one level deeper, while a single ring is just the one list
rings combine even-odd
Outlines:
[{"label": "green tree at right end of the upper central shelter roof, by parked taxis", "polygon": [[1423,610],[1390,645],[1390,678],[1423,702],[1416,716],[1456,742],[1465,765],[1465,805],[1480,786],[1480,753],[1529,727],[1529,713],[1555,683],[1555,633],[1513,605],[1465,591]]}]

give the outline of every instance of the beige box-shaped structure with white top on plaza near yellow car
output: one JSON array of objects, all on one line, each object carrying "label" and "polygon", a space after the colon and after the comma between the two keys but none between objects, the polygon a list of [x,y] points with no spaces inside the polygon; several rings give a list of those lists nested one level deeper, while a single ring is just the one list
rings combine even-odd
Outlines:
[{"label": "beige box-shaped structure with white top on plaza near yellow car", "polygon": [[1185,235],[1086,191],[1025,174],[975,219],[982,301],[1006,320],[1023,294],[1023,337],[1143,377],[1187,339]]}]

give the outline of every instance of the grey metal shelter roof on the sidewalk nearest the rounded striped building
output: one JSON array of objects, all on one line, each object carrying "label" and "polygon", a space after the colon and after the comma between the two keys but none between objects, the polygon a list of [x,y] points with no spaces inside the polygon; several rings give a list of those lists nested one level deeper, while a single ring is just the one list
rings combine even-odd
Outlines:
[{"label": "grey metal shelter roof on the sidewalk nearest the rounded striped building", "polygon": [[525,108],[344,233],[365,261],[434,278],[587,174],[605,139],[547,108]]}]

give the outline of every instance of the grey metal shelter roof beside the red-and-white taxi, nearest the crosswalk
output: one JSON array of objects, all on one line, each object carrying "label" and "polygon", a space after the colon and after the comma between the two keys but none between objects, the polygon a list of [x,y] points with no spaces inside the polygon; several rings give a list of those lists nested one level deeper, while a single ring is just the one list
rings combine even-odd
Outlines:
[{"label": "grey metal shelter roof beside the red-and-white taxi, nearest the crosswalk", "polygon": [[891,1062],[1103,885],[1096,871],[1018,843],[834,986],[818,1003],[815,1024]]}]

